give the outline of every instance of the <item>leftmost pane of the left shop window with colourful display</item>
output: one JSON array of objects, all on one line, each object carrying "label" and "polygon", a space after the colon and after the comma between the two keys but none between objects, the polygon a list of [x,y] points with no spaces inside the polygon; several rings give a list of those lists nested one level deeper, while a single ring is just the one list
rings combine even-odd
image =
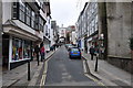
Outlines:
[{"label": "leftmost pane of the left shop window with colourful display", "polygon": [[22,59],[22,40],[12,38],[12,61]]}]

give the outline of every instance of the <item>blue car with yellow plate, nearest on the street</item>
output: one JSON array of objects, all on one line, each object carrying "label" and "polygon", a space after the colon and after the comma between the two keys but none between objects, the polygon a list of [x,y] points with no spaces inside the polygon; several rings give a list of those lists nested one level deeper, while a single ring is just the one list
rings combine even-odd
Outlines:
[{"label": "blue car with yellow plate, nearest on the street", "polygon": [[81,58],[81,51],[78,47],[72,47],[69,52],[70,58]]}]

